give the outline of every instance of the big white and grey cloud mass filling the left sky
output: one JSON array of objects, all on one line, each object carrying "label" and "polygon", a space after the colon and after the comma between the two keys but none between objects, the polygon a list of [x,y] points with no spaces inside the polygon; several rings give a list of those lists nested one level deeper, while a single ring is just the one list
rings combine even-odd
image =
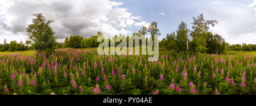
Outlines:
[{"label": "big white and grey cloud mass filling the left sky", "polygon": [[130,31],[125,28],[141,20],[140,16],[133,16],[127,9],[119,7],[122,2],[110,0],[15,1],[0,1],[0,31],[8,32],[10,36],[23,36],[23,39],[26,39],[25,29],[31,23],[32,14],[40,12],[55,21],[51,26],[59,41],[70,35],[90,37],[98,31],[106,37],[127,34]]}]

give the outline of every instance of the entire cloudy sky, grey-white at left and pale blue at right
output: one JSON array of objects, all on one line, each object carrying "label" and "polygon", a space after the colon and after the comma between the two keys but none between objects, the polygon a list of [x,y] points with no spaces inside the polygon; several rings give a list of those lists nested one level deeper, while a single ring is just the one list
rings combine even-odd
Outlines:
[{"label": "entire cloudy sky, grey-white at left and pale blue at right", "polygon": [[0,43],[26,41],[32,14],[43,13],[58,41],[66,36],[131,35],[158,22],[160,39],[181,21],[191,28],[192,16],[205,14],[218,24],[210,29],[230,44],[256,44],[256,0],[0,0]]}]

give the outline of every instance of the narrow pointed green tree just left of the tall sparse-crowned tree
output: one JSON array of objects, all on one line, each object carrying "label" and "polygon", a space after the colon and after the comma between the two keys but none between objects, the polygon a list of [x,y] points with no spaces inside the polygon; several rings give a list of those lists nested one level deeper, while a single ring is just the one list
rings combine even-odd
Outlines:
[{"label": "narrow pointed green tree just left of the tall sparse-crowned tree", "polygon": [[184,22],[181,22],[176,32],[177,32],[177,35],[176,35],[177,49],[181,51],[188,50],[187,25]]}]

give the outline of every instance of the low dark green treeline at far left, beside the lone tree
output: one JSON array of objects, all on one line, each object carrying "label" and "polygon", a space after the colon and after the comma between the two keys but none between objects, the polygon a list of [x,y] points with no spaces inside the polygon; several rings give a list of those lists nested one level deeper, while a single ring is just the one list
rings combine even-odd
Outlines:
[{"label": "low dark green treeline at far left, beside the lone tree", "polygon": [[10,44],[6,42],[6,39],[3,41],[3,44],[0,44],[0,52],[5,51],[24,51],[32,49],[30,46],[25,45],[22,41],[17,43],[17,41],[11,41]]}]

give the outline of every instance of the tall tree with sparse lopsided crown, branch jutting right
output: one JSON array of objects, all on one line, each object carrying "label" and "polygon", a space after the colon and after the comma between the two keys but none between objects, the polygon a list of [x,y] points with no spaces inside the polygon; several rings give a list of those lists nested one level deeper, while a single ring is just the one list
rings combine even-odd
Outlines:
[{"label": "tall tree with sparse lopsided crown, branch jutting right", "polygon": [[210,26],[214,27],[217,23],[217,20],[205,20],[204,14],[200,14],[197,18],[193,17],[191,48],[195,52],[207,52],[207,32]]}]

